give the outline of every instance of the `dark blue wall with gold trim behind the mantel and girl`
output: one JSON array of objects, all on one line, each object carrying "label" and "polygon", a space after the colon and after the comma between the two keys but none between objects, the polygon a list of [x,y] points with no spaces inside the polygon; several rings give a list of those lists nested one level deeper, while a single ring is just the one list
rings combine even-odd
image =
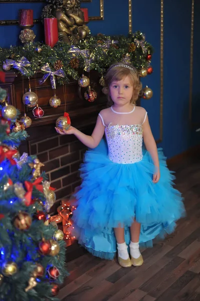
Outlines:
[{"label": "dark blue wall with gold trim behind the mantel and girl", "polygon": [[[128,0],[121,4],[121,0],[104,0],[104,21],[89,23],[91,33],[101,32],[106,35],[128,33]],[[0,4],[0,19],[12,20],[18,18],[19,9],[33,9],[34,18],[40,18],[45,3]],[[150,7],[149,7],[150,6]],[[98,16],[99,0],[82,4],[87,7],[89,16]],[[200,141],[200,85],[199,78],[199,47],[198,35],[200,32],[200,3],[194,4],[194,52],[193,52],[193,98],[192,122],[198,123],[192,128],[189,126],[189,53],[190,53],[190,21],[191,0],[164,1],[164,96],[163,96],[163,140],[159,144],[164,148],[168,158],[184,152],[190,146]],[[150,100],[142,100],[142,106],[148,111],[150,125],[155,139],[159,138],[160,114],[160,1],[142,0],[133,2],[132,9],[133,32],[142,31],[147,41],[154,47],[152,75],[142,79],[143,85],[153,90]],[[34,26],[37,39],[44,39],[43,27]],[[18,26],[0,27],[0,46],[9,47],[19,45]]]}]

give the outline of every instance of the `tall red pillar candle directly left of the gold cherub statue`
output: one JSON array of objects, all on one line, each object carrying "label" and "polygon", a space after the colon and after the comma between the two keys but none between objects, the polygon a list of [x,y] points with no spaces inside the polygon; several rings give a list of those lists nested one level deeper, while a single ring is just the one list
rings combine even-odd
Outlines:
[{"label": "tall red pillar candle directly left of the gold cherub statue", "polygon": [[58,42],[58,21],[57,18],[44,18],[45,44],[54,47]]}]

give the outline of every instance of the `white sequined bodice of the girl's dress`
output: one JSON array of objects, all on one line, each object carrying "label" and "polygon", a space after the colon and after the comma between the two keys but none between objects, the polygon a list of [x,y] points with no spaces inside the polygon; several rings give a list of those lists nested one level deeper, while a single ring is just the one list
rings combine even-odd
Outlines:
[{"label": "white sequined bodice of the girl's dress", "polygon": [[112,125],[105,127],[109,158],[112,162],[131,164],[142,160],[141,124]]}]

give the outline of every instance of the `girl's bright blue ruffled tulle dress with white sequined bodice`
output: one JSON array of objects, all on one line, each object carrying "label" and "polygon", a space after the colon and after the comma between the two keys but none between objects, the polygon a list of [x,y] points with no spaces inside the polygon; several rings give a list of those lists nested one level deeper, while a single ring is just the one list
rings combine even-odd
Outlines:
[{"label": "girl's bright blue ruffled tulle dress with white sequined bodice", "polygon": [[81,165],[82,184],[75,194],[78,207],[72,217],[72,233],[100,258],[115,256],[114,227],[124,227],[129,244],[129,227],[135,219],[141,223],[140,246],[151,247],[152,239],[173,232],[175,222],[185,215],[181,194],[173,188],[175,177],[161,149],[161,177],[158,183],[152,182],[155,167],[150,154],[142,150],[142,133],[141,124],[108,124],[106,141],[102,139],[96,148],[89,149]]}]

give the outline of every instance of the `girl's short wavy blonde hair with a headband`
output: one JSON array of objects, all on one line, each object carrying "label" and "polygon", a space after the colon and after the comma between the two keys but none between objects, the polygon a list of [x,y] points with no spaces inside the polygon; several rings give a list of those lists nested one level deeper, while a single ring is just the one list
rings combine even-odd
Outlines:
[{"label": "girl's short wavy blonde hair with a headband", "polygon": [[139,73],[137,69],[130,64],[126,64],[124,62],[115,63],[110,66],[108,69],[104,79],[105,79],[105,87],[102,89],[103,93],[108,97],[108,104],[113,104],[113,101],[110,97],[109,86],[110,84],[116,80],[121,80],[124,77],[129,76],[130,82],[133,86],[133,95],[130,100],[130,103],[135,104],[138,99],[139,92],[142,89],[142,84],[139,80]]}]

